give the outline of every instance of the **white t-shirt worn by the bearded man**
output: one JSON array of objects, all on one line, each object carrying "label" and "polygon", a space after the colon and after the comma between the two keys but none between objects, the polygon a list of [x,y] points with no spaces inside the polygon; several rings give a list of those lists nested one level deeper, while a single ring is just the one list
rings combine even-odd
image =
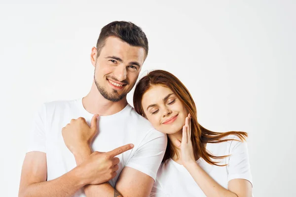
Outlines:
[{"label": "white t-shirt worn by the bearded man", "polygon": [[[46,153],[47,180],[58,178],[76,166],[74,155],[64,143],[62,128],[71,119],[85,118],[90,124],[93,114],[87,112],[82,99],[45,103],[38,110],[30,132],[28,152]],[[125,166],[148,174],[155,180],[156,173],[165,153],[167,137],[156,131],[147,119],[139,115],[129,104],[120,112],[100,116],[98,135],[92,143],[92,150],[108,152],[119,146],[133,143],[132,150],[116,157],[120,159],[117,176],[110,180],[112,187]],[[85,197],[83,190],[74,197]]]}]

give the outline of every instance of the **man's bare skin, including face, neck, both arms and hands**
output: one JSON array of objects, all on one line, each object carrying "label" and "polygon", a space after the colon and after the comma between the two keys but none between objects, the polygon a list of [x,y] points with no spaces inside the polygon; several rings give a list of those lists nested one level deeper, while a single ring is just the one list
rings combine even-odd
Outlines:
[{"label": "man's bare skin, including face, neck, both arms and hands", "polygon": [[[92,122],[96,122],[97,114],[111,115],[127,105],[126,94],[136,83],[146,59],[145,54],[144,48],[131,46],[116,37],[106,39],[99,56],[97,49],[92,48],[90,58],[95,67],[94,80],[89,93],[82,99],[85,110],[95,114]],[[124,86],[121,89],[114,88],[108,80]],[[74,129],[76,126],[78,130]],[[80,130],[85,132],[78,132]],[[107,153],[93,152],[90,143],[95,132],[94,127],[88,126],[83,118],[69,120],[62,134],[65,144],[74,154],[77,167],[51,181],[46,181],[46,154],[27,153],[22,168],[19,196],[70,197],[82,187],[87,197],[114,197],[120,194],[129,197],[148,196],[153,179],[130,167],[124,167],[121,171],[116,190],[111,187],[107,181],[116,175],[119,163],[116,154],[131,149],[133,145],[127,144]]]}]

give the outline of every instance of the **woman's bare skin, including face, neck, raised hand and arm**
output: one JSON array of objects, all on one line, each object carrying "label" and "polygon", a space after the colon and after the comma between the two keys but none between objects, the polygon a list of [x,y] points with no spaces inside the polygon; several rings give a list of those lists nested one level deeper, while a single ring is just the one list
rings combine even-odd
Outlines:
[{"label": "woman's bare skin, including face, neck, raised hand and arm", "polygon": [[[252,185],[249,181],[245,179],[230,180],[227,190],[196,163],[198,158],[194,157],[190,140],[191,116],[183,103],[175,95],[171,94],[173,94],[172,90],[167,87],[152,86],[143,95],[142,107],[145,111],[145,117],[152,126],[158,131],[167,133],[173,145],[177,147],[180,157],[179,159],[176,157],[172,159],[184,165],[207,197],[252,197]],[[168,95],[170,96],[168,97]],[[163,124],[164,121],[176,114],[179,115],[174,122]]]}]

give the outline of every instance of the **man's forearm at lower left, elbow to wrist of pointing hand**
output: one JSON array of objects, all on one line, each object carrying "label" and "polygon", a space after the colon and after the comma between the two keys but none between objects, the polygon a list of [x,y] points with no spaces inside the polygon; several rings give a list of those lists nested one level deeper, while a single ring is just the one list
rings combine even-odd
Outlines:
[{"label": "man's forearm at lower left, elbow to wrist of pointing hand", "polygon": [[84,185],[83,178],[76,167],[51,181],[24,187],[25,189],[19,192],[19,197],[71,197]]}]

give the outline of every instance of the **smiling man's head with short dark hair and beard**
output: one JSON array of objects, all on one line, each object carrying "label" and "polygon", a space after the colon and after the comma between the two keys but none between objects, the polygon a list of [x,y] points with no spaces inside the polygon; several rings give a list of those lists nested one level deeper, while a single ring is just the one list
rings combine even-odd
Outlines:
[{"label": "smiling man's head with short dark hair and beard", "polygon": [[113,102],[123,99],[135,85],[147,55],[147,37],[135,24],[114,21],[103,27],[91,53],[101,95]]}]

